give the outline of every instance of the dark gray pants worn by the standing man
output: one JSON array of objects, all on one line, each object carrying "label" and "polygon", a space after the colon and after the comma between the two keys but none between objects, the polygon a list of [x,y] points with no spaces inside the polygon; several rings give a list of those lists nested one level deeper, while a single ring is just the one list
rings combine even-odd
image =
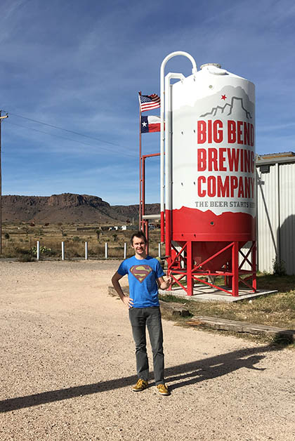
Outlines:
[{"label": "dark gray pants worn by the standing man", "polygon": [[148,380],[148,359],[146,348],[145,327],[150,335],[152,359],[154,364],[155,383],[164,383],[163,331],[159,306],[150,308],[130,308],[133,338],[136,343],[136,369],[139,379]]}]

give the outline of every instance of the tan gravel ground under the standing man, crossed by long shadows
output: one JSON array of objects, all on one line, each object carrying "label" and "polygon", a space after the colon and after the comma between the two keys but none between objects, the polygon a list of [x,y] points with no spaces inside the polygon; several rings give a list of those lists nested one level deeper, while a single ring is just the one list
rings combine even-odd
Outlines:
[{"label": "tan gravel ground under the standing man, crossed by long shadows", "polygon": [[117,265],[0,262],[1,441],[294,441],[292,350],[164,320],[171,396],[133,393]]}]

